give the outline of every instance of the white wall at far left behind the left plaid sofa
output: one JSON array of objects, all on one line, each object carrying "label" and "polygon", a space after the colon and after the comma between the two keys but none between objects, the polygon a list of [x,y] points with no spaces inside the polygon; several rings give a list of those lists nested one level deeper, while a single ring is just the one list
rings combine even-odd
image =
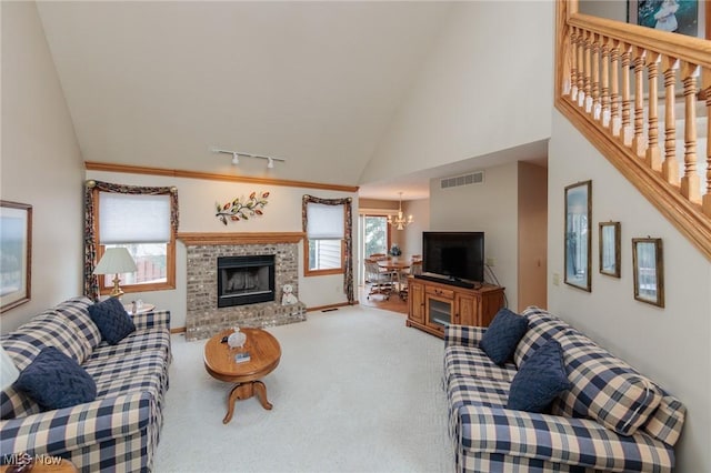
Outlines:
[{"label": "white wall at far left behind the left plaid sofa", "polygon": [[31,300],[2,333],[82,293],[83,163],[34,2],[2,2],[1,198],[32,205]]}]

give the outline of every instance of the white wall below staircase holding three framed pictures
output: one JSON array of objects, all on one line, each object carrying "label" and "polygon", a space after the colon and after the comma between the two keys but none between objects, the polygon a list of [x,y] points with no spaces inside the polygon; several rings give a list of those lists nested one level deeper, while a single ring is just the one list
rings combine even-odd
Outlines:
[{"label": "white wall below staircase holding three framed pictures", "polygon": [[[562,283],[563,188],[592,180],[592,292]],[[677,471],[711,471],[711,263],[557,111],[549,148],[549,284],[553,313],[627,360],[687,406]],[[597,228],[621,222],[622,278],[599,273]],[[663,240],[665,308],[633,298],[631,239]]]}]

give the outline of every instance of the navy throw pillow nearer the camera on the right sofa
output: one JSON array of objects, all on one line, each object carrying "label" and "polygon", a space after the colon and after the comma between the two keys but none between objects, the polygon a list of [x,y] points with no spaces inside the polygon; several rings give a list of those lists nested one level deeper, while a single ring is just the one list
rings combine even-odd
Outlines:
[{"label": "navy throw pillow nearer the camera on the right sofa", "polygon": [[555,340],[549,340],[533,352],[513,376],[507,409],[545,412],[555,396],[570,388],[563,349]]}]

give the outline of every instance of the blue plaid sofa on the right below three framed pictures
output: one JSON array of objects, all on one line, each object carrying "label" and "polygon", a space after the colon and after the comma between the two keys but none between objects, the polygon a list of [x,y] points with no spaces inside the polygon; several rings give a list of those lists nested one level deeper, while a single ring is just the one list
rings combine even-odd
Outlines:
[{"label": "blue plaid sofa on the right below three framed pictures", "polygon": [[[528,308],[513,360],[481,351],[485,329],[445,331],[442,384],[455,465],[462,472],[670,472],[685,407],[632,366],[554,315]],[[551,338],[563,349],[572,388],[550,413],[505,409],[520,366]]]}]

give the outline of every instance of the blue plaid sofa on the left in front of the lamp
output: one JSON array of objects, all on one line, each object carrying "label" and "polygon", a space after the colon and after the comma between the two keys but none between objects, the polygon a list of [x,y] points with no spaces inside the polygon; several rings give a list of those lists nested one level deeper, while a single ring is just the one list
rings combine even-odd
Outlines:
[{"label": "blue plaid sofa on the left in front of the lamp", "polygon": [[56,346],[97,383],[94,401],[44,412],[24,393],[3,391],[3,459],[27,452],[69,459],[82,472],[151,471],[171,362],[170,312],[133,315],[136,332],[109,345],[89,315],[91,304],[70,299],[0,338],[19,370]]}]

